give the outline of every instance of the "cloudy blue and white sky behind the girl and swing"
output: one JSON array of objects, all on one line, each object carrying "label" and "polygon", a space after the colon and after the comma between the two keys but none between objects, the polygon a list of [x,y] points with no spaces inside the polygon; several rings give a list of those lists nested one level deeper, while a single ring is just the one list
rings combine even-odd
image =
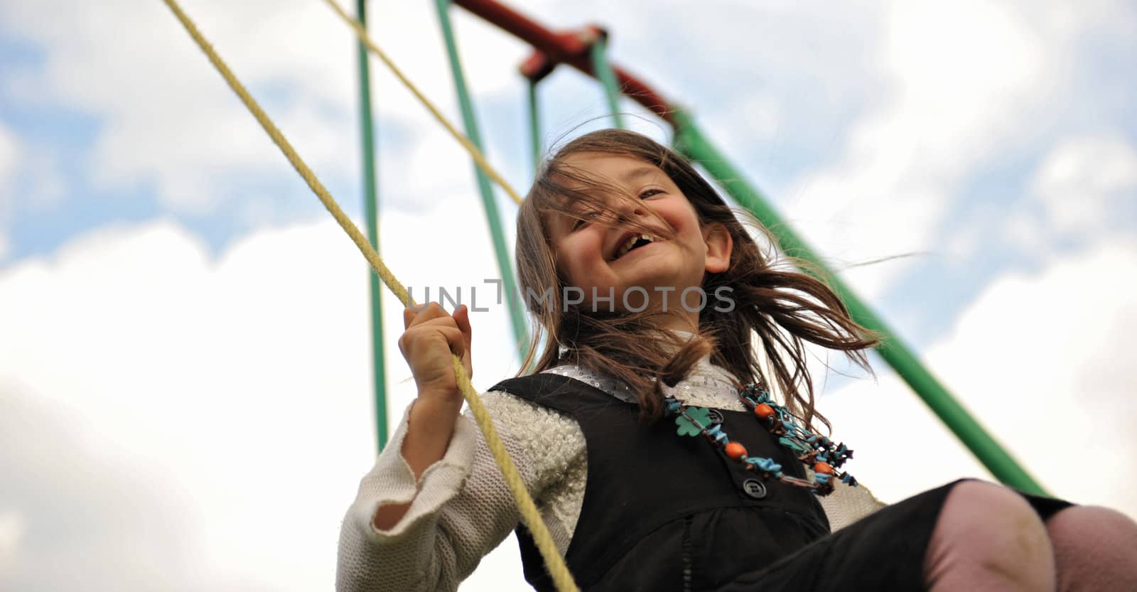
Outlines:
[{"label": "cloudy blue and white sky behind the girl and swing", "polygon": [[[457,119],[432,3],[370,7]],[[317,0],[184,8],[358,219],[350,31]],[[1137,516],[1132,3],[524,10],[608,27],[1044,486]],[[454,17],[487,151],[525,187],[528,49]],[[498,277],[468,159],[372,72],[388,265],[416,290]],[[604,125],[575,72],[540,94],[550,141]],[[0,590],[331,589],[375,453],[366,298],[358,252],[161,2],[0,3]],[[414,389],[384,306],[397,419]],[[473,326],[484,389],[517,360],[500,307]],[[874,361],[820,402],[850,472],[886,501],[987,476]],[[524,590],[514,556],[463,590]]]}]

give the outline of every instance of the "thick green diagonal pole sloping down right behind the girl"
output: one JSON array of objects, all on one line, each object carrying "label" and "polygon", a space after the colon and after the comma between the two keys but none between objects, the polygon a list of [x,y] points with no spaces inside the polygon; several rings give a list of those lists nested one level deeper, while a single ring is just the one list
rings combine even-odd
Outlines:
[{"label": "thick green diagonal pole sloping down right behind the girl", "polygon": [[870,330],[880,332],[885,342],[877,352],[897,374],[908,383],[924,403],[963,441],[976,457],[1001,482],[1018,487],[1028,493],[1046,495],[1030,474],[1027,473],[995,441],[990,434],[955,400],[955,398],[924,368],[915,355],[890,330],[885,322],[861,301],[841,280],[833,274],[820,257],[798,236],[788,224],[770,206],[765,198],[744,181],[739,170],[703,135],[691,116],[680,109],[673,110],[675,123],[677,148],[692,160],[698,160],[706,170],[735,198],[748,209],[758,220],[774,233],[783,252],[798,257],[818,266],[823,274],[821,280],[833,286],[845,306],[857,323]]}]

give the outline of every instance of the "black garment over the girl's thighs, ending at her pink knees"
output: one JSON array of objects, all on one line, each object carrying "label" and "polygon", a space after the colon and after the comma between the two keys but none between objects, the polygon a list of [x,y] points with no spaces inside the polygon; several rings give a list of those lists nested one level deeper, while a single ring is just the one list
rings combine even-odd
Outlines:
[{"label": "black garment over the girl's thighs, ending at her pink knees", "polygon": [[[944,500],[957,480],[887,506],[717,592],[923,591],[923,562]],[[1012,490],[1018,491],[1018,490]],[[1018,492],[1046,520],[1064,500]]]}]

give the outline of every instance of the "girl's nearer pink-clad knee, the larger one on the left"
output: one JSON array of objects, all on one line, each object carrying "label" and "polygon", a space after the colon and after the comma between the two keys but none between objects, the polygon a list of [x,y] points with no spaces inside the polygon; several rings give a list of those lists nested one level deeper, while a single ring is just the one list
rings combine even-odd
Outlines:
[{"label": "girl's nearer pink-clad knee, the larger one on the left", "polygon": [[1053,592],[1056,582],[1038,514],[1014,491],[982,481],[948,492],[923,574],[930,592]]}]

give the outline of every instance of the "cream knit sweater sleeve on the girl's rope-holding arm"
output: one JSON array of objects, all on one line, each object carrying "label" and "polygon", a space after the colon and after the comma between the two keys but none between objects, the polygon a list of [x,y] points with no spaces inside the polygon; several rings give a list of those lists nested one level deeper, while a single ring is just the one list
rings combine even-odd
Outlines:
[{"label": "cream knit sweater sleeve on the girl's rope-holding arm", "polygon": [[[557,503],[547,493],[564,491],[572,473],[565,467],[583,460],[580,427],[506,393],[490,392],[482,399],[564,552],[573,525],[548,511]],[[468,411],[458,418],[442,459],[417,483],[399,452],[406,431],[405,414],[343,519],[335,577],[340,592],[454,591],[520,520],[513,494]],[[409,510],[395,526],[375,528],[379,508],[408,501]]]}]

